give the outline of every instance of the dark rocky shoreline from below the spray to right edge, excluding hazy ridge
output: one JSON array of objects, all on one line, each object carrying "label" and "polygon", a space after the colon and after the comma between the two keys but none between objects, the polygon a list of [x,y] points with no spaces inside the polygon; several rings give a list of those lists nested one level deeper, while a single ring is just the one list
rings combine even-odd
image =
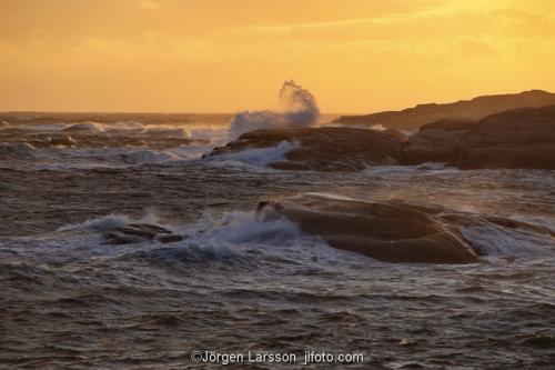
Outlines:
[{"label": "dark rocky shoreline from below the spray to right edge, excluding hazy ridge", "polygon": [[256,130],[206,157],[271,148],[283,141],[294,147],[283,161],[269,167],[360,171],[369,166],[444,162],[461,169],[555,169],[555,106],[508,110],[480,121],[443,119],[408,138],[391,129],[349,127]]}]

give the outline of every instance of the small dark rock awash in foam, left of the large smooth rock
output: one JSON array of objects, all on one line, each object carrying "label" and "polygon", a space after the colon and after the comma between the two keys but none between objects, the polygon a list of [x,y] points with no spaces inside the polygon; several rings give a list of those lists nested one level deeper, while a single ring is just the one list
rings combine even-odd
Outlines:
[{"label": "small dark rock awash in foam, left of the large smooth rock", "polygon": [[108,244],[129,244],[145,240],[157,240],[170,243],[183,240],[183,237],[172,233],[162,227],[149,223],[130,223],[112,229],[103,236]]}]

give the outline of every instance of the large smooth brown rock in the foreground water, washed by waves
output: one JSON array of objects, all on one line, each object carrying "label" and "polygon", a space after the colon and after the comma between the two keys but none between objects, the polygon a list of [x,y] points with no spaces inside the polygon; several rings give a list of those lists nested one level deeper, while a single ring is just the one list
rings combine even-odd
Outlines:
[{"label": "large smooth brown rock in the foreground water, washed by waves", "polygon": [[386,262],[473,263],[478,257],[458,230],[433,211],[400,201],[363,202],[304,196],[261,202],[263,218],[283,216],[330,246]]}]

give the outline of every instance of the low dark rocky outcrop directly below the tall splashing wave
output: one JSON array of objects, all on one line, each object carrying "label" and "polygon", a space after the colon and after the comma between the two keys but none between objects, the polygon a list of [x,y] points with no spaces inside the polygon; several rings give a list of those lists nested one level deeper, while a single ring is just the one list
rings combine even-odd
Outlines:
[{"label": "low dark rocky outcrop directly below the tall splashing wave", "polygon": [[403,140],[398,131],[355,128],[302,128],[256,130],[242,134],[208,157],[246,149],[272,148],[286,141],[293,144],[283,160],[269,163],[275,169],[316,171],[357,171],[366,166],[401,163]]}]

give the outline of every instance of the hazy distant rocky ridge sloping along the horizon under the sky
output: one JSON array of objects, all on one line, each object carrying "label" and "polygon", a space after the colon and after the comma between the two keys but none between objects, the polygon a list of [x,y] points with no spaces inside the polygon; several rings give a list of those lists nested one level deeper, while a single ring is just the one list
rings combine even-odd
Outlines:
[{"label": "hazy distant rocky ridge sloping along the horizon under the sky", "polygon": [[417,130],[420,127],[442,119],[481,120],[490,114],[524,107],[555,104],[555,94],[542,90],[521,93],[485,96],[472,100],[460,100],[446,104],[420,104],[401,111],[385,111],[367,116],[344,116],[335,123],[350,126],[382,124],[400,130]]}]

